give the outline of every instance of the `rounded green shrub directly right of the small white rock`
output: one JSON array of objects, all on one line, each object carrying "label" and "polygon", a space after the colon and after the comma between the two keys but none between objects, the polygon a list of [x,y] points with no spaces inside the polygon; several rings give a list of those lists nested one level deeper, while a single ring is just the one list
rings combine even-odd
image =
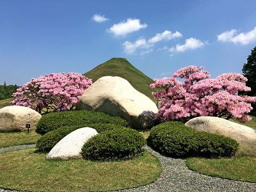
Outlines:
[{"label": "rounded green shrub directly right of the small white rock", "polygon": [[90,138],[82,147],[84,159],[120,159],[139,156],[146,140],[140,132],[124,128],[101,132]]}]

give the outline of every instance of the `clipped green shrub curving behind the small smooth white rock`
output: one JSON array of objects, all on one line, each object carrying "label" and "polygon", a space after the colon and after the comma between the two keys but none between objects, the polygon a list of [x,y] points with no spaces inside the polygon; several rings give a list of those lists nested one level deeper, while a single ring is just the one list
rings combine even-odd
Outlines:
[{"label": "clipped green shrub curving behind the small smooth white rock", "polygon": [[[95,129],[98,133],[108,131],[108,130],[113,130],[116,128],[119,128],[119,129],[125,128],[125,127],[122,127],[121,125],[114,125],[114,124],[88,124],[85,127],[91,127]],[[54,145],[56,145],[65,136],[70,134],[70,132],[80,128],[82,128],[80,125],[63,126],[58,129],[54,129],[53,131],[49,131],[46,134],[44,134],[36,142],[36,148],[39,152],[49,152],[54,147]]]}]

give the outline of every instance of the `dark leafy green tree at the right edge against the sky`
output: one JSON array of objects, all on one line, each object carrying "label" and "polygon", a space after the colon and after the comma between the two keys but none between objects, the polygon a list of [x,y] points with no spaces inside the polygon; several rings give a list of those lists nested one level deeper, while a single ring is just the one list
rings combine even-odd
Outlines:
[{"label": "dark leafy green tree at the right edge against the sky", "polygon": [[248,79],[246,86],[249,86],[251,92],[243,92],[243,95],[255,96],[256,95],[256,47],[252,49],[252,53],[248,55],[247,63],[243,65],[243,74]]}]

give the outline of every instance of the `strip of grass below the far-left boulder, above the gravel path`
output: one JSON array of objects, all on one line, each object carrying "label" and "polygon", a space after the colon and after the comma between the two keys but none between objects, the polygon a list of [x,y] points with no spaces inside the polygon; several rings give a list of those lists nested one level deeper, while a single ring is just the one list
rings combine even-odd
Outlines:
[{"label": "strip of grass below the far-left boulder, above the gravel path", "polygon": [[35,131],[0,132],[0,148],[15,145],[34,144],[41,137]]}]

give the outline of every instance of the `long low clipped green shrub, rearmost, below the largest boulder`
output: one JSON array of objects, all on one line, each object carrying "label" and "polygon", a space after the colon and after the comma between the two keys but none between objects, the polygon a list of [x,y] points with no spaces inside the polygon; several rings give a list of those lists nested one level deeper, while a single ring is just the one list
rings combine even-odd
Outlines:
[{"label": "long low clipped green shrub, rearmost, below the largest boulder", "polygon": [[87,127],[86,125],[91,124],[115,124],[129,127],[129,123],[119,116],[86,110],[61,111],[42,115],[42,118],[36,125],[36,132],[38,134],[45,134],[63,126],[79,125],[80,127]]}]

